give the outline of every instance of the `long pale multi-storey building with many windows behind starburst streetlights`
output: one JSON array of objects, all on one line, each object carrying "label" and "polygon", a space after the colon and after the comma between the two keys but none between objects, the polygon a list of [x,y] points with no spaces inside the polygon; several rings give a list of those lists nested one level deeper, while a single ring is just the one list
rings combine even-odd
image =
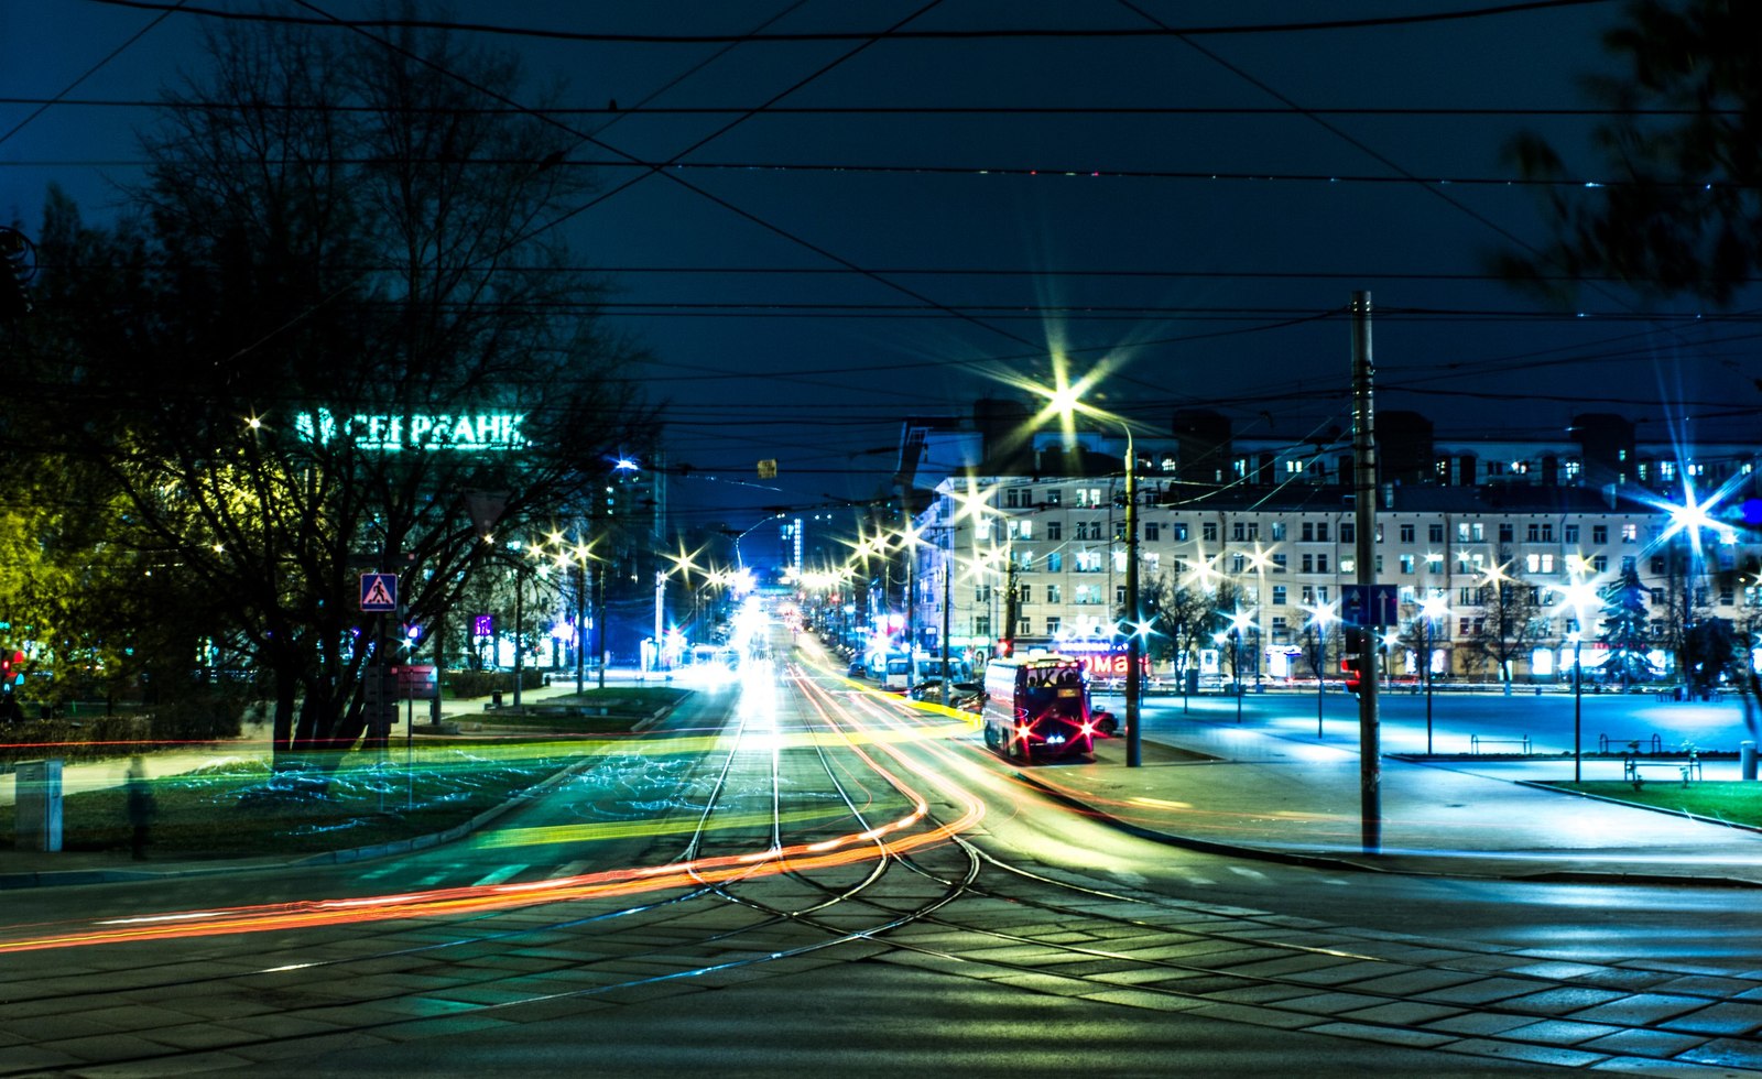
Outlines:
[{"label": "long pale multi-storey building with many windows behind starburst streetlights", "polygon": [[[1121,665],[1124,435],[1025,421],[1018,406],[981,402],[971,420],[906,423],[899,478],[902,502],[922,508],[922,540],[909,566],[872,582],[870,615],[890,599],[929,651],[946,621],[946,644],[969,659],[1013,638]],[[1198,411],[1177,413],[1168,434],[1133,434],[1142,598],[1184,589],[1195,606],[1179,631],[1159,624],[1156,673],[1239,661],[1244,679],[1313,681],[1304,649],[1327,640],[1316,615],[1360,580],[1350,437],[1232,437],[1225,418]],[[1649,589],[1660,666],[1684,626],[1716,617],[1748,631],[1762,614],[1762,541],[1736,513],[1758,494],[1753,444],[1639,443],[1610,414],[1547,441],[1438,439],[1415,413],[1380,414],[1378,434],[1374,571],[1399,598],[1383,645],[1394,677],[1417,675],[1427,651],[1438,679],[1570,675],[1575,631],[1589,675],[1603,645],[1588,587],[1630,568]],[[1684,527],[1672,506],[1686,490],[1720,492],[1723,513]],[[1448,614],[1422,619],[1427,599]],[[1230,615],[1237,631],[1219,636]],[[1337,640],[1322,647],[1334,656]],[[1323,670],[1339,668],[1323,658]]]}]

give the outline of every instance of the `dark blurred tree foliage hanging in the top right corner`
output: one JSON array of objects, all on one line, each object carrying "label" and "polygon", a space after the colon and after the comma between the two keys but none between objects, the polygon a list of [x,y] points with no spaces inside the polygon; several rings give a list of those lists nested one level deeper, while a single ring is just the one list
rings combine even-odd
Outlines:
[{"label": "dark blurred tree foliage hanging in the top right corner", "polygon": [[[1614,118],[1595,129],[1593,173],[1545,139],[1507,146],[1545,182],[1554,242],[1503,270],[1551,293],[1559,275],[1614,275],[1646,293],[1727,303],[1762,270],[1762,7],[1732,0],[1633,0],[1603,37],[1621,78],[1588,79]],[[1588,182],[1595,182],[1591,187]]]}]

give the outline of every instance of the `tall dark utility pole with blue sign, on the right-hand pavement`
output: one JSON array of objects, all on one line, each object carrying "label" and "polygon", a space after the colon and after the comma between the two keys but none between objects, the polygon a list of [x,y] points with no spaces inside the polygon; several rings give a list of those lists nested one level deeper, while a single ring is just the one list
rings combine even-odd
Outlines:
[{"label": "tall dark utility pole with blue sign, on the right-hand pavement", "polygon": [[[1376,594],[1376,425],[1371,400],[1371,293],[1351,294],[1351,471],[1357,515],[1357,577],[1364,619],[1378,622]],[[1374,615],[1371,612],[1376,612]],[[1366,853],[1383,846],[1383,756],[1376,719],[1376,642],[1366,626],[1359,684],[1359,815]]]}]

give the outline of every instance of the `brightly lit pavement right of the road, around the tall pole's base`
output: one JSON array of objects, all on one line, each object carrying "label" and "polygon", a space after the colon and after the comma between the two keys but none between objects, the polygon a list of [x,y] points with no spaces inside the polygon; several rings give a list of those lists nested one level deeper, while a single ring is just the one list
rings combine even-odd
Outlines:
[{"label": "brightly lit pavement right of the road, around the tall pole's base", "polygon": [[[1381,843],[1364,852],[1359,753],[1233,725],[1184,725],[1098,744],[1094,765],[1036,765],[1027,781],[1140,834],[1364,869],[1514,880],[1702,880],[1762,885],[1762,834],[1529,783],[1572,779],[1572,762],[1381,762]],[[1470,770],[1471,769],[1471,770]],[[1619,779],[1619,762],[1586,762]],[[1707,779],[1737,779],[1709,762]]]}]

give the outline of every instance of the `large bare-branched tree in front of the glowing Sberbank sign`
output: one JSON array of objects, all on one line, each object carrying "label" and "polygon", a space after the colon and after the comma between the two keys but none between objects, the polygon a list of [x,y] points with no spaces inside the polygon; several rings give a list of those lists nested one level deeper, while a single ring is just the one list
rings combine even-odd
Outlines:
[{"label": "large bare-branched tree in front of the glowing Sberbank sign", "polygon": [[[520,573],[500,540],[569,515],[634,441],[617,374],[640,353],[546,227],[590,190],[559,167],[569,139],[481,108],[518,90],[511,60],[433,30],[229,25],[210,49],[107,238],[125,317],[63,312],[58,425],[104,465],[123,543],[201,582],[273,679],[298,763],[370,733],[358,575],[402,573],[405,617],[439,622]],[[62,234],[72,273],[85,231]]]}]

